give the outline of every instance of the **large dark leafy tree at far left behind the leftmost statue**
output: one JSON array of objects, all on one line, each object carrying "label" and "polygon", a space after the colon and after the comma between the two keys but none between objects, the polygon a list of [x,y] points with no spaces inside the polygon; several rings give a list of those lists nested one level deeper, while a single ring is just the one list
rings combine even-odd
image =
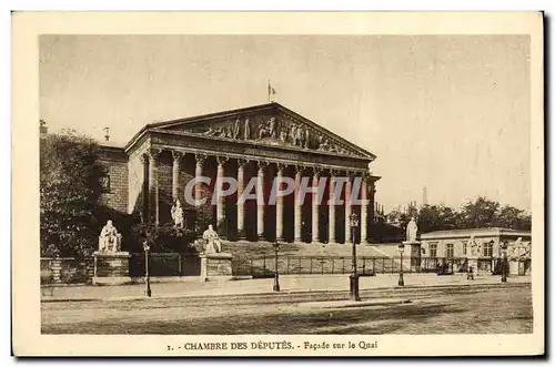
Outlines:
[{"label": "large dark leafy tree at far left behind the leftmost statue", "polygon": [[97,246],[95,211],[105,175],[99,147],[73,131],[40,141],[40,239],[42,256],[90,256]]}]

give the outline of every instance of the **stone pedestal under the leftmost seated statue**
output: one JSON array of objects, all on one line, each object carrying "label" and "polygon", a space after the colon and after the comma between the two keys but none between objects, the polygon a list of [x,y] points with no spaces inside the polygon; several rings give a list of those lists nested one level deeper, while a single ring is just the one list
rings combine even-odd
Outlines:
[{"label": "stone pedestal under the leftmost seated statue", "polygon": [[92,284],[94,285],[121,285],[130,284],[129,276],[129,258],[131,255],[128,252],[94,253],[94,276]]}]

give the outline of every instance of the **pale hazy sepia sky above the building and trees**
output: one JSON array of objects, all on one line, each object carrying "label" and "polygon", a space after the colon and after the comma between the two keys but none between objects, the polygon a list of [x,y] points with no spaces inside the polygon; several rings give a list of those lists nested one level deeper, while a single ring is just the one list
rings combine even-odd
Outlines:
[{"label": "pale hazy sepia sky above the building and trees", "polygon": [[275,101],[375,154],[376,201],[531,207],[526,35],[41,35],[40,119],[127,143]]}]

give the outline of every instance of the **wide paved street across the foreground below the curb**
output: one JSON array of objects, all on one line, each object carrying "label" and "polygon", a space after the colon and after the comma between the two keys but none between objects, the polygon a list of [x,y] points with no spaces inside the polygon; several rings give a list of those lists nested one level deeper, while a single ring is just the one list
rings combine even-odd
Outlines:
[{"label": "wide paved street across the foreground below the curb", "polygon": [[363,300],[410,304],[303,307],[345,299],[342,290],[43,302],[46,334],[513,334],[532,333],[529,284],[361,292]]}]

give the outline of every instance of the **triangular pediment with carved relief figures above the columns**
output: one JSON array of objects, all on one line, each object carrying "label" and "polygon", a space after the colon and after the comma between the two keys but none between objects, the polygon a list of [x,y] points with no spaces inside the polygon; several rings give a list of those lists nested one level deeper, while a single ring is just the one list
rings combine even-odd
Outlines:
[{"label": "triangular pediment with carved relief figures above the columns", "polygon": [[278,103],[150,125],[261,145],[287,146],[374,160],[375,156]]}]

